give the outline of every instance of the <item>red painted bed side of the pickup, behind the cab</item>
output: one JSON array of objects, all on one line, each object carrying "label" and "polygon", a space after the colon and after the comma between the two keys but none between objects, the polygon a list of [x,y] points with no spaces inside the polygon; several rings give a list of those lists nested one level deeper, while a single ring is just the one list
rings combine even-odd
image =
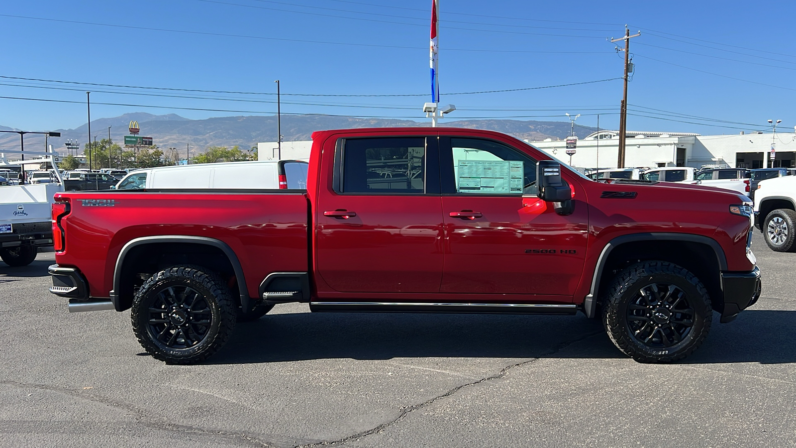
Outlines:
[{"label": "red painted bed side of the pickup, behind the cab", "polygon": [[[306,272],[306,196],[295,193],[71,192],[61,220],[66,250],[58,265],[80,269],[92,297],[108,297],[116,258],[135,238],[189,235],[215,238],[235,251],[250,297],[279,270]],[[115,206],[82,206],[80,199],[113,199]]]}]

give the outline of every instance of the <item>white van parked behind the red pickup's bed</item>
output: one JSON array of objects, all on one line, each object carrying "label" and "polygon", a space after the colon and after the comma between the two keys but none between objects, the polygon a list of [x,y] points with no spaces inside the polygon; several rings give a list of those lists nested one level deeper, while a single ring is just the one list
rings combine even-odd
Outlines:
[{"label": "white van parked behind the red pickup's bed", "polygon": [[255,160],[144,168],[124,176],[115,189],[305,190],[308,167],[301,160]]}]

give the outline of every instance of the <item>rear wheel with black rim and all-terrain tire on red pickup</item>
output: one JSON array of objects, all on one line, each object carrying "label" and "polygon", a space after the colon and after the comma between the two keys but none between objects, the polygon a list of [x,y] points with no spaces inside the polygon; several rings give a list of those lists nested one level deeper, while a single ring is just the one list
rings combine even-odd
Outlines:
[{"label": "rear wheel with black rim and all-terrain tire on red pickup", "polygon": [[131,320],[139,343],[167,364],[197,364],[232,334],[236,303],[224,280],[201,266],[154,274],[135,294]]}]

